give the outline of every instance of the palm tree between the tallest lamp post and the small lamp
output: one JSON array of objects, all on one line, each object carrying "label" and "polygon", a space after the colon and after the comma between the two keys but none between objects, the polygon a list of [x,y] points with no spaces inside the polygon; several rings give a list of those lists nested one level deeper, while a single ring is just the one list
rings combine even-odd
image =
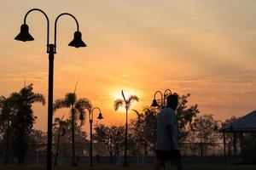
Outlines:
[{"label": "palm tree between the tallest lamp post and the small lamp", "polygon": [[[77,99],[75,93],[67,93],[64,99],[56,99],[54,103],[54,111],[61,108],[70,108],[71,109],[71,123],[72,123],[72,150],[73,150],[73,159],[72,166],[78,166],[75,156],[75,141],[74,141],[74,122],[78,120],[79,115],[85,114],[85,109],[89,111],[92,108],[89,99],[81,98]],[[84,121],[84,120],[81,120]]]}]

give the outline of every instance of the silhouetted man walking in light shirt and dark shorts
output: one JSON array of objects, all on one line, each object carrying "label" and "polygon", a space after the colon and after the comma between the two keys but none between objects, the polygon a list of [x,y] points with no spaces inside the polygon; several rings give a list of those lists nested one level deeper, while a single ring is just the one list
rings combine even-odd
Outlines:
[{"label": "silhouetted man walking in light shirt and dark shorts", "polygon": [[172,161],[178,170],[183,170],[183,162],[177,144],[177,95],[167,97],[167,106],[160,112],[157,126],[156,163],[154,170],[160,170],[166,161]]}]

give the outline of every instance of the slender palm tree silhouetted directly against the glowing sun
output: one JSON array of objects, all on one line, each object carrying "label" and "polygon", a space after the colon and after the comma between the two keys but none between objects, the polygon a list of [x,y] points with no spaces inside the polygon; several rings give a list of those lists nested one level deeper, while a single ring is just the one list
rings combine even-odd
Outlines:
[{"label": "slender palm tree silhouetted directly against the glowing sun", "polygon": [[124,160],[124,167],[128,167],[127,161],[127,140],[128,140],[128,111],[131,108],[131,103],[134,101],[138,101],[137,95],[130,95],[128,99],[125,99],[125,94],[122,90],[123,99],[116,99],[113,103],[114,111],[118,111],[119,107],[125,107],[126,111],[126,121],[125,121],[125,160]]}]

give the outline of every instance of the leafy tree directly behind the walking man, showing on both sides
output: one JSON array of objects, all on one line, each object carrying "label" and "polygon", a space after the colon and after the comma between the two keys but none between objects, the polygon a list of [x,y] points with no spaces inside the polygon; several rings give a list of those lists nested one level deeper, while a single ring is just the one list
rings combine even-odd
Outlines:
[{"label": "leafy tree directly behind the walking man, showing on both sides", "polygon": [[[197,105],[189,105],[189,95],[185,94],[178,97],[176,111],[178,125],[178,140],[183,143],[191,131],[191,123],[199,113]],[[136,132],[136,140],[140,145],[144,145],[144,155],[147,156],[148,150],[155,150],[157,133],[157,120],[160,114],[158,107],[145,107],[142,113],[137,113],[138,119],[132,122],[132,130]]]}]

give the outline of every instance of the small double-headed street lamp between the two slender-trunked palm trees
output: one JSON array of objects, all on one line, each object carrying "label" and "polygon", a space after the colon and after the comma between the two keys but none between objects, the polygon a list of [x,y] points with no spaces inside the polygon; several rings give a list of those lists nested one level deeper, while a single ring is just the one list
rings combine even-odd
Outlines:
[{"label": "small double-headed street lamp between the two slender-trunked palm trees", "polygon": [[[97,119],[102,120],[103,116],[102,116],[102,111],[100,108],[98,107],[94,107],[92,110],[88,110],[89,111],[89,122],[90,122],[90,167],[93,166],[93,161],[92,161],[92,122],[93,122],[93,111],[98,110],[99,111],[99,116],[97,116]],[[80,115],[80,120],[83,120],[84,117],[83,114]]]}]

